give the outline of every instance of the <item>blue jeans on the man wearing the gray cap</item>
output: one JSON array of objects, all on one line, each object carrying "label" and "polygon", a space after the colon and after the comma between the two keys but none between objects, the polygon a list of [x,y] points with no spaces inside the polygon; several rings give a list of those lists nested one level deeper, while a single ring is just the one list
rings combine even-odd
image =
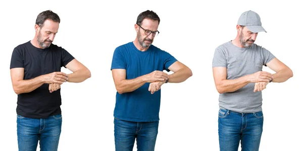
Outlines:
[{"label": "blue jeans on the man wearing the gray cap", "polygon": [[257,151],[263,131],[263,113],[238,113],[219,110],[219,143],[221,151],[236,151],[241,140],[242,151]]}]

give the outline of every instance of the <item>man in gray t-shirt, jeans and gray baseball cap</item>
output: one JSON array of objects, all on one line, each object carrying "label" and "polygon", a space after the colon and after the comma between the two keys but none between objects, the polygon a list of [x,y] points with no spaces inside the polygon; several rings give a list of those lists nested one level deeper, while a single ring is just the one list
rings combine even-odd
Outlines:
[{"label": "man in gray t-shirt, jeans and gray baseball cap", "polygon": [[[262,90],[270,82],[285,82],[292,71],[270,51],[255,44],[259,32],[266,32],[260,16],[241,14],[237,36],[216,48],[213,75],[219,96],[220,150],[259,150],[263,131]],[[262,71],[263,65],[276,73]]]}]

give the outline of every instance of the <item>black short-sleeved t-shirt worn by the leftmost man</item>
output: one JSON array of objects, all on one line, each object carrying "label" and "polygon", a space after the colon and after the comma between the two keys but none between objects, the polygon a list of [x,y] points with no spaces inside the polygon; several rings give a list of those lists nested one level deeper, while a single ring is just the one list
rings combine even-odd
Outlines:
[{"label": "black short-sleeved t-shirt worn by the leftmost man", "polygon": [[[30,41],[17,46],[12,54],[11,67],[24,68],[24,80],[39,75],[61,71],[74,57],[62,47],[51,44],[48,48],[39,49]],[[48,84],[43,84],[36,90],[18,95],[17,114],[29,118],[47,118],[61,114],[60,90],[49,93]]]}]

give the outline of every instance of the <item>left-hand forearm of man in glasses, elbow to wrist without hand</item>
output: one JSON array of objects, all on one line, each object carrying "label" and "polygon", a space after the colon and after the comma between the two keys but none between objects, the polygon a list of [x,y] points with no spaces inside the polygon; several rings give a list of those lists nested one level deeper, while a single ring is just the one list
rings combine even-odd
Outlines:
[{"label": "left-hand forearm of man in glasses, elbow to wrist without hand", "polygon": [[141,77],[131,79],[131,80],[121,80],[119,82],[119,85],[116,85],[116,89],[119,94],[127,93],[127,92],[133,92],[143,86],[146,83],[146,80],[144,78],[145,75],[142,75]]}]

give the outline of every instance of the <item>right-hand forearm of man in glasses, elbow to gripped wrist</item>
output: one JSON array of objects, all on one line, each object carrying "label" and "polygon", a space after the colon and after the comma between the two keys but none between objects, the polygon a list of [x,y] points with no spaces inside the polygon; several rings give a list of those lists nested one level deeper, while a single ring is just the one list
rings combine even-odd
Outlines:
[{"label": "right-hand forearm of man in glasses, elbow to gripped wrist", "polygon": [[173,74],[169,75],[169,83],[181,83],[191,77],[192,72],[189,68],[181,68]]}]

